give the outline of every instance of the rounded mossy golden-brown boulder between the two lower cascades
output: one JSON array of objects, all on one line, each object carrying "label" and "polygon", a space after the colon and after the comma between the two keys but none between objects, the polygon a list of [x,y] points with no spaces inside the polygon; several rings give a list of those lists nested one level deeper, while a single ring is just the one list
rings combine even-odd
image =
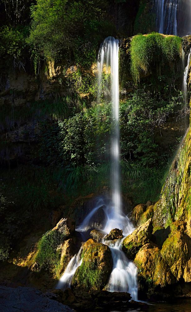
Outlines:
[{"label": "rounded mossy golden-brown boulder between the two lower cascades", "polygon": [[77,269],[72,284],[88,290],[103,289],[112,271],[112,254],[107,245],[92,239],[84,244],[82,264]]}]

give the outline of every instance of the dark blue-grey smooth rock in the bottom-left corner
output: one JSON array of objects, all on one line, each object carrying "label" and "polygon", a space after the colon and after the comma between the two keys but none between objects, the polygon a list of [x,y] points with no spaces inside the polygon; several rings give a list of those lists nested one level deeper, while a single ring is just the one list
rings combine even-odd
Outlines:
[{"label": "dark blue-grey smooth rock in the bottom-left corner", "polygon": [[[7,312],[72,312],[68,306],[51,300],[40,290],[28,287],[0,286],[0,311]],[[52,294],[52,297],[55,297]],[[54,298],[55,299],[55,298]]]}]

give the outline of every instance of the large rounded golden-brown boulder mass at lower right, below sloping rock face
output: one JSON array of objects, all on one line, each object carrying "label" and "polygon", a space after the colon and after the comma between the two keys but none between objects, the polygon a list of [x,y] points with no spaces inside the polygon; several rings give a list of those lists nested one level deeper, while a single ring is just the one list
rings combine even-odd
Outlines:
[{"label": "large rounded golden-brown boulder mass at lower right, below sloping rock face", "polygon": [[156,294],[157,287],[157,291],[165,293],[165,286],[177,285],[183,279],[191,282],[191,238],[186,233],[186,222],[173,222],[170,227],[155,231],[154,236],[158,245],[145,244],[134,259],[140,288]]}]

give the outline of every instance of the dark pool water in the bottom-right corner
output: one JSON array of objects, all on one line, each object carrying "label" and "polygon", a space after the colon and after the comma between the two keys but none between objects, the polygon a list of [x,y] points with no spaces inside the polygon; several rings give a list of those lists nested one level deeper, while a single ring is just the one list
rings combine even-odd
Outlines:
[{"label": "dark pool water in the bottom-right corner", "polygon": [[146,309],[129,309],[126,312],[191,312],[191,299],[149,303]]}]

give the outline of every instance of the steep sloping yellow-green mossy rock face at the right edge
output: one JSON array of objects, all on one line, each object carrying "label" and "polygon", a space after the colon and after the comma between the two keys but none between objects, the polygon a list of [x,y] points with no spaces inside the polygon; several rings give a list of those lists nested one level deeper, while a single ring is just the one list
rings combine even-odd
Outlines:
[{"label": "steep sloping yellow-green mossy rock face at the right edge", "polygon": [[191,129],[189,129],[154,206],[154,226],[168,227],[172,222],[187,222],[191,237]]}]

